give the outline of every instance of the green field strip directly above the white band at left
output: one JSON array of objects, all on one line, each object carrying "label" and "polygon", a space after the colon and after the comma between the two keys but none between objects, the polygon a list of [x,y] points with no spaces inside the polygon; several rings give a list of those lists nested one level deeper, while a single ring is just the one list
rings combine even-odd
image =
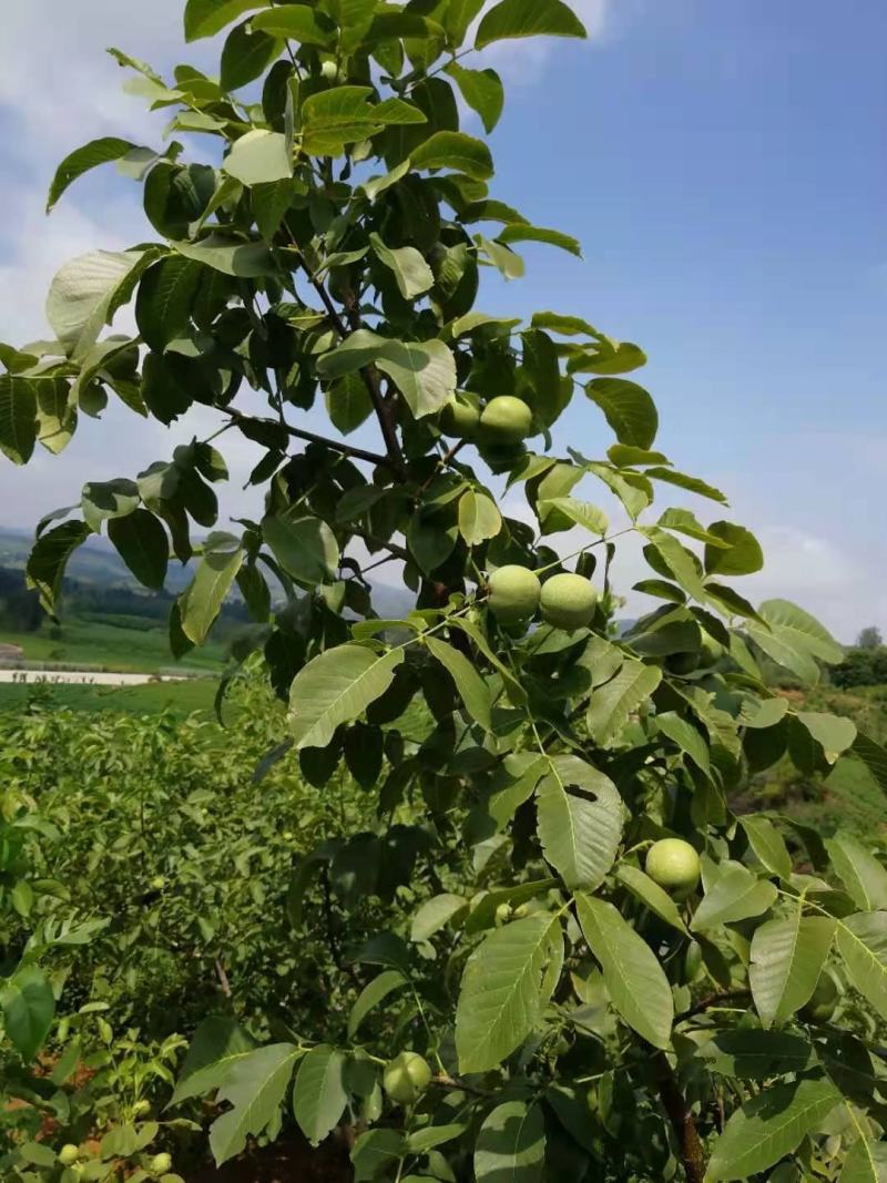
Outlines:
[{"label": "green field strip directly above the white band at left", "polygon": [[[127,673],[156,673],[176,662],[169,652],[166,628],[122,628],[78,618],[65,619],[61,635],[53,638],[45,627],[37,633],[0,631],[0,644],[18,645],[27,661],[65,661],[72,665],[101,665]],[[194,649],[181,662],[183,668],[218,672],[225,649],[212,641]]]}]

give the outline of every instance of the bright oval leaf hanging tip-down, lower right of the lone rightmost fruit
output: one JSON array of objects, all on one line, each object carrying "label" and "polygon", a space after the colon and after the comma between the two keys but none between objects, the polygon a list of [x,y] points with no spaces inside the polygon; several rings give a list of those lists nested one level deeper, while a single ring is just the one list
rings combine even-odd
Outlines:
[{"label": "bright oval leaf hanging tip-down, lower right of the lone rightmost fruit", "polygon": [[785,1022],[810,1001],[834,935],[831,917],[804,916],[801,903],[785,919],[755,930],[749,983],[764,1027]]}]

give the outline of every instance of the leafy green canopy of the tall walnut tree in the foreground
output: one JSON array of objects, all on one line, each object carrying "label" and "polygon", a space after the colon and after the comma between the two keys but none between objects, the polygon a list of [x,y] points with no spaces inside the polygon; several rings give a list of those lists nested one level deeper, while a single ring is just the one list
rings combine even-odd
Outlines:
[{"label": "leafy green canopy of the tall walnut tree in the foreground", "polygon": [[[297,1042],[233,1040],[218,1071],[199,1033],[201,1079],[229,1106],[211,1145],[220,1162],[238,1153],[279,1130],[286,1103],[312,1142],[360,1119],[363,1179],[698,1183],[706,1163],[711,1179],[881,1178],[882,854],[823,846],[790,819],[739,826],[730,801],[783,754],[803,774],[853,763],[885,788],[887,752],[768,687],[773,662],[815,680],[842,651],[802,608],[756,608],[734,588],[760,547],[720,516],[724,493],[655,448],[640,347],[575,315],[475,306],[485,270],[523,274],[523,244],[580,247],[492,194],[491,150],[462,115],[492,131],[504,88],[470,53],[585,35],[561,0],[500,0],[472,33],[480,8],[188,0],[187,40],[225,33],[219,79],[188,65],[164,79],[112,51],[168,136],[218,150],[73,151],[50,206],[116,162],[142,185],[151,240],[67,264],[53,337],[0,350],[12,463],[38,442],[61,451],[112,399],[182,428],[170,458],[86,483],[40,523],[28,578],[47,610],[103,529],[148,588],[194,560],[173,652],[239,594],[255,628],[238,658],[290,704],[279,738],[306,780],[330,782],[344,759],[380,786],[375,829],[303,851],[287,901],[297,932],[318,874],[343,885],[345,910],[389,905],[389,931],[352,955],[350,1019]],[[128,304],[137,336],[109,332]],[[582,451],[564,452],[574,400]],[[216,418],[206,438],[192,408]],[[231,434],[261,452],[250,483],[264,510],[220,530]],[[662,486],[719,517],[660,512]],[[658,607],[620,633],[610,568],[630,537],[649,567],[636,590]],[[383,562],[414,597],[403,619],[374,612]],[[543,584],[572,571],[598,594],[572,605],[571,631],[505,626],[486,600],[506,564]],[[701,856],[687,900],[643,871],[668,835]],[[840,982],[834,1022],[808,1009],[823,974]],[[32,1058],[54,1006],[43,970],[20,967],[0,997],[6,1037]],[[391,1123],[376,1064],[400,1049],[435,1078]]]}]

